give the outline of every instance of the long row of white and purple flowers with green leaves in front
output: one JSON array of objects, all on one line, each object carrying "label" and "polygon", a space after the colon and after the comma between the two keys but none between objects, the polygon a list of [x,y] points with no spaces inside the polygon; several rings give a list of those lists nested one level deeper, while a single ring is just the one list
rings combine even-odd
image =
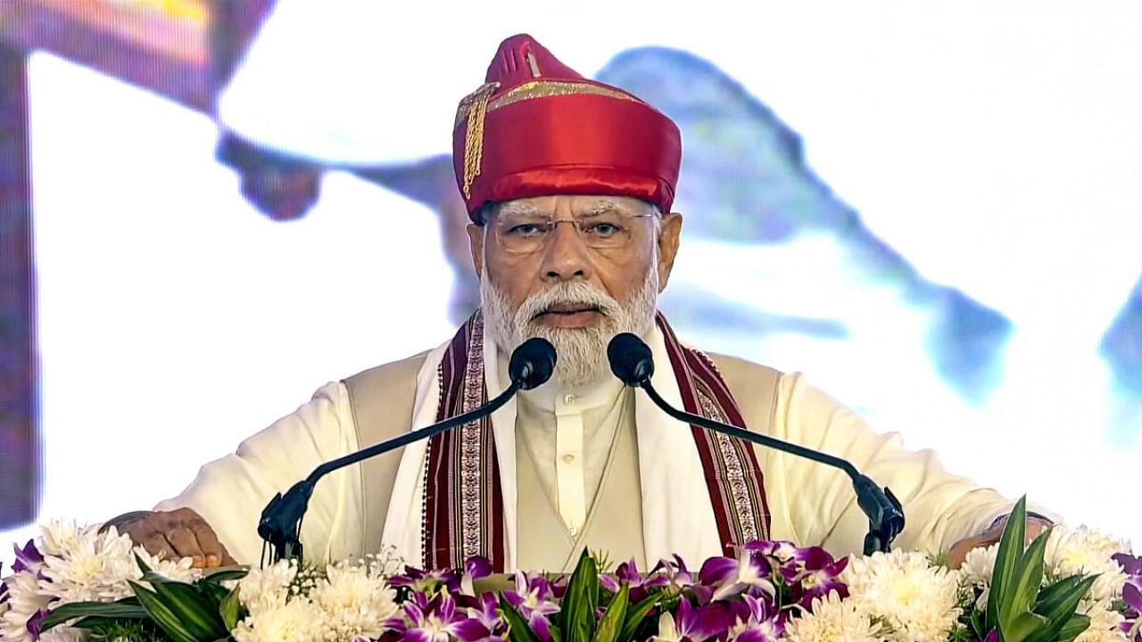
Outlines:
[{"label": "long row of white and purple flowers with green leaves in front", "polygon": [[584,554],[570,577],[353,562],[202,572],[114,529],[55,522],[0,585],[0,640],[199,642],[1142,642],[1142,559],[1095,530],[1026,545],[1023,503],[960,569],[916,552],[834,559],[782,541],[697,570]]}]

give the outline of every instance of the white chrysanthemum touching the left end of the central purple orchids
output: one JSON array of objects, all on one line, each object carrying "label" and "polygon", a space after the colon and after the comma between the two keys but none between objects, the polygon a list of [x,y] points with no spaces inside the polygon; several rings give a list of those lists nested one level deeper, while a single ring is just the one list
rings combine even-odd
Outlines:
[{"label": "white chrysanthemum touching the left end of the central purple orchids", "polygon": [[317,581],[309,597],[325,612],[327,639],[380,636],[381,624],[396,612],[396,592],[377,572],[381,568],[339,563],[325,569],[325,579]]}]

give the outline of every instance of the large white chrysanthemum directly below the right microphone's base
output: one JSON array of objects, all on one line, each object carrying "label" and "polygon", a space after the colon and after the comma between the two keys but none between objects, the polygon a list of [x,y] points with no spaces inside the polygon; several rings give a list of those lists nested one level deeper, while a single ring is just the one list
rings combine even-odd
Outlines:
[{"label": "large white chrysanthemum directly below the right microphone's base", "polygon": [[933,567],[923,553],[853,557],[841,580],[858,610],[890,628],[888,640],[943,642],[958,626],[959,573]]}]

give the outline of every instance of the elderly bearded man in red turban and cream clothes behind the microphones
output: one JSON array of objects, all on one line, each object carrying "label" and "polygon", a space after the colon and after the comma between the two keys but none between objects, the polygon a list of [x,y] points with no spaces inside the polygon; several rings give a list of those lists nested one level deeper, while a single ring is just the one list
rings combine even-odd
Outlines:
[{"label": "elderly bearded man in red turban and cream clothes behind the microphones", "polygon": [[657,312],[682,230],[670,211],[681,141],[665,115],[517,35],[460,103],[453,136],[481,310],[435,350],[322,387],[159,512],[120,520],[136,540],[204,565],[256,561],[273,493],[475,408],[507,387],[507,355],[540,336],[558,355],[547,384],[322,481],[301,530],[309,555],[389,544],[426,568],[483,555],[557,571],[584,547],[643,568],[765,538],[860,551],[867,519],[844,474],[671,420],[611,376],[606,345],[625,331],[650,345],[653,384],[675,406],[845,457],[890,485],[908,515],[898,547],[959,557],[995,539],[1004,497],[875,434],[798,375],[674,335]]}]

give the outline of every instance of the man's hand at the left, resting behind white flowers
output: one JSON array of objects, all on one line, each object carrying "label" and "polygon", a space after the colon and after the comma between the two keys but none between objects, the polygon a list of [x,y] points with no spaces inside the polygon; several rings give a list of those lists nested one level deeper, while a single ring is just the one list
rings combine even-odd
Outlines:
[{"label": "man's hand at the left, resting behind white flowers", "polygon": [[174,560],[190,557],[198,569],[236,565],[210,524],[190,508],[127,513],[107,524],[129,535],[135,544],[152,555],[162,554]]}]

